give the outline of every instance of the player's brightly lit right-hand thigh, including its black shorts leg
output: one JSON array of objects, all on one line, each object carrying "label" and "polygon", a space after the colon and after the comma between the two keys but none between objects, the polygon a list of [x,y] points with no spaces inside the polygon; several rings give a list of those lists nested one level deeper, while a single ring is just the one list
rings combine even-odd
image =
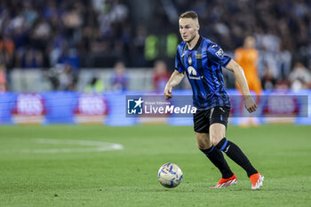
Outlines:
[{"label": "player's brightly lit right-hand thigh, including its black shorts leg", "polygon": [[210,115],[210,139],[214,146],[226,137],[230,107],[213,107]]}]

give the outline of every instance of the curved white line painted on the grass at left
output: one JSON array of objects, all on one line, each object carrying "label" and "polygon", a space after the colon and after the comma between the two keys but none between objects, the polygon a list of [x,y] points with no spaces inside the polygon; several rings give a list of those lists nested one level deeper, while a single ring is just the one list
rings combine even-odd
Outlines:
[{"label": "curved white line painted on the grass at left", "polygon": [[77,145],[84,146],[78,148],[48,148],[48,149],[20,149],[12,150],[21,153],[72,153],[72,152],[102,152],[109,150],[123,149],[123,145],[116,143],[90,141],[90,140],[73,140],[73,139],[34,139],[36,143],[49,145]]}]

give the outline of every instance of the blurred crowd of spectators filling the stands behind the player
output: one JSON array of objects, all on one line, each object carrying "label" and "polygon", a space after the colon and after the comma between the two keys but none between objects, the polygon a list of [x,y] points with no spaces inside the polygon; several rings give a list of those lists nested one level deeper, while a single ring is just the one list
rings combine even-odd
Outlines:
[{"label": "blurred crowd of spectators filling the stands behind the player", "polygon": [[[12,68],[51,68],[48,74],[55,90],[74,90],[79,68],[165,68],[161,76],[167,79],[180,41],[179,14],[194,10],[199,15],[201,35],[232,56],[245,36],[255,37],[258,75],[264,89],[311,87],[308,0],[150,1],[155,8],[145,24],[135,19],[137,14],[131,9],[139,3],[0,1],[0,84],[5,84],[5,70]],[[163,77],[154,80],[161,80],[162,85]],[[115,88],[126,87],[128,81],[124,78],[125,84]]]}]

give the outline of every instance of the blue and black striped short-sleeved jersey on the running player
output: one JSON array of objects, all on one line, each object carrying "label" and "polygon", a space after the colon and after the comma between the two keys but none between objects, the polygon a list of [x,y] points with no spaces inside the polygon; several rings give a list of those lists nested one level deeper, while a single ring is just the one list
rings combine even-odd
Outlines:
[{"label": "blue and black striped short-sleeved jersey on the running player", "polygon": [[177,47],[175,69],[186,72],[192,86],[194,106],[198,110],[211,107],[230,107],[230,100],[224,89],[222,68],[231,60],[219,45],[200,36],[192,50],[186,42]]}]

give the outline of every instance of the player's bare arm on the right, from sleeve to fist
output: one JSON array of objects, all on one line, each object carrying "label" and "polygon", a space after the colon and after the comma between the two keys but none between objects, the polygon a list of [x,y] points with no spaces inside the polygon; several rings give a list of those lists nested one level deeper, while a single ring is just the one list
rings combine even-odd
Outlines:
[{"label": "player's bare arm on the right, from sleeve to fist", "polygon": [[245,101],[245,107],[246,109],[251,113],[256,111],[257,105],[255,101],[251,98],[251,92],[249,90],[246,77],[244,75],[243,68],[235,62],[235,60],[230,60],[227,64],[226,68],[228,70],[231,70],[235,74],[235,78],[237,81],[237,84],[239,84],[242,93],[243,93],[243,99]]}]

